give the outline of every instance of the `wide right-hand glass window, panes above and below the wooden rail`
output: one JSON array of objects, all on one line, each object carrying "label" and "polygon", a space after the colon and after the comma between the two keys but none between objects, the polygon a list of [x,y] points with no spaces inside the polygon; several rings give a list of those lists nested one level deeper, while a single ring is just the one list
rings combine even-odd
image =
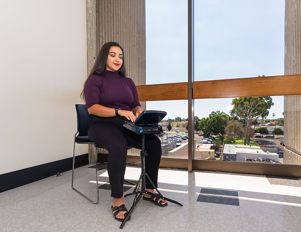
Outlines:
[{"label": "wide right-hand glass window, panes above and below the wooden rail", "polygon": [[[194,80],[283,75],[284,9],[284,1],[194,1]],[[270,105],[247,115],[248,101],[260,100]],[[195,100],[195,158],[283,163],[283,112],[283,96]]]}]

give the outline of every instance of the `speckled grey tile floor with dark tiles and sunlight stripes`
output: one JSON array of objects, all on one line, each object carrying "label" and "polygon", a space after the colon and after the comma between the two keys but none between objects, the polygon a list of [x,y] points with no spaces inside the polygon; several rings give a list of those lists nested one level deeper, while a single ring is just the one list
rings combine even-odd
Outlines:
[{"label": "speckled grey tile floor with dark tiles and sunlight stripes", "polygon": [[[74,186],[96,199],[95,169],[75,169]],[[137,181],[139,167],[126,168]],[[0,231],[301,231],[301,180],[234,173],[160,169],[159,191],[183,204],[140,200],[122,230],[111,212],[106,169],[98,205],[71,189],[72,171],[0,193]],[[127,184],[126,193],[133,188]],[[134,197],[125,198],[131,207]]]}]

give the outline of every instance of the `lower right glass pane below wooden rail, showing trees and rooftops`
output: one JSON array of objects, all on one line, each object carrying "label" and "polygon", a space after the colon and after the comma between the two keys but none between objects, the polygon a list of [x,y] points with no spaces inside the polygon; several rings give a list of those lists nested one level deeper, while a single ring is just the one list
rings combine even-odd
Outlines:
[{"label": "lower right glass pane below wooden rail, showing trees and rooftops", "polygon": [[211,100],[195,100],[195,159],[284,163],[283,96],[226,98],[209,108]]}]

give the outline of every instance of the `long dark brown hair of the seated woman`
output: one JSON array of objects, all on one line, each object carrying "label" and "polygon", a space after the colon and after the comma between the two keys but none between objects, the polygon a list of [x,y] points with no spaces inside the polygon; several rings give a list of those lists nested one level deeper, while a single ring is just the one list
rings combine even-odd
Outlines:
[{"label": "long dark brown hair of the seated woman", "polygon": [[95,61],[95,64],[94,64],[94,66],[93,66],[93,68],[92,68],[87,80],[85,81],[83,88],[82,88],[80,98],[84,102],[86,100],[86,98],[85,98],[85,88],[86,88],[87,81],[89,80],[89,78],[92,75],[101,75],[101,74],[104,73],[104,71],[106,70],[107,58],[108,58],[109,50],[110,50],[111,47],[119,47],[121,49],[122,54],[123,54],[123,56],[122,56],[122,65],[118,70],[118,74],[120,76],[126,77],[126,66],[124,64],[123,48],[116,42],[107,42],[107,43],[105,43],[104,45],[102,45],[102,47],[101,47],[101,49],[98,53],[97,59]]}]

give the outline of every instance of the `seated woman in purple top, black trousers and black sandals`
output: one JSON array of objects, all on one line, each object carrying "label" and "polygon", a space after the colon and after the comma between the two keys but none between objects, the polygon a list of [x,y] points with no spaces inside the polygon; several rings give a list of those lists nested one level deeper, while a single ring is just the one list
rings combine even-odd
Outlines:
[{"label": "seated woman in purple top, black trousers and black sandals", "polygon": [[[89,114],[94,118],[88,128],[91,141],[108,150],[107,170],[113,197],[113,217],[122,221],[128,210],[123,202],[123,180],[126,170],[127,147],[141,149],[141,136],[123,127],[126,120],[135,121],[142,109],[138,92],[132,79],[125,77],[123,48],[115,42],[104,44],[81,93]],[[145,136],[145,170],[157,187],[161,158],[161,143],[156,135]],[[146,190],[155,193],[146,179]],[[158,206],[167,201],[148,194],[144,200]]]}]

